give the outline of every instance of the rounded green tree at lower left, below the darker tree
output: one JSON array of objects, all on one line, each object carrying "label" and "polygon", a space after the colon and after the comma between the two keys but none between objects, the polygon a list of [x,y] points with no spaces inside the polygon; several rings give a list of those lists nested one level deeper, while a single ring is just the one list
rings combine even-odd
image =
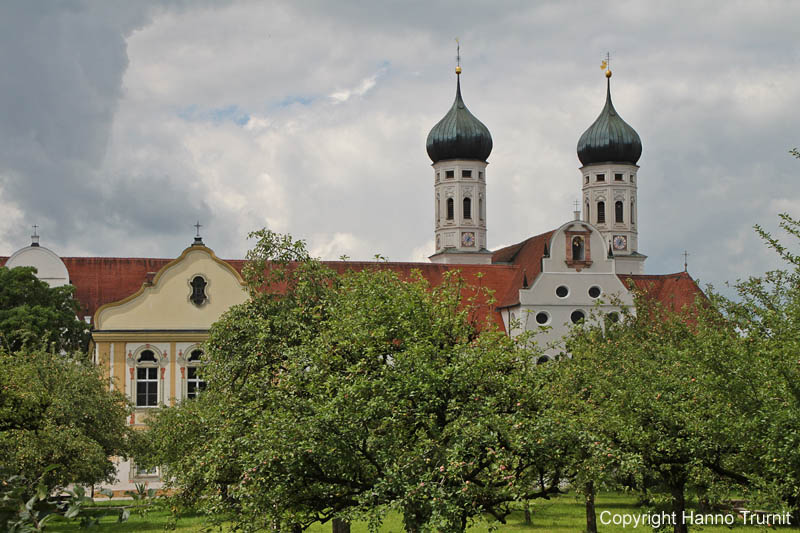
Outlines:
[{"label": "rounded green tree at lower left, below the darker tree", "polygon": [[113,479],[127,413],[125,397],[83,357],[0,352],[0,478],[41,477],[51,489]]}]

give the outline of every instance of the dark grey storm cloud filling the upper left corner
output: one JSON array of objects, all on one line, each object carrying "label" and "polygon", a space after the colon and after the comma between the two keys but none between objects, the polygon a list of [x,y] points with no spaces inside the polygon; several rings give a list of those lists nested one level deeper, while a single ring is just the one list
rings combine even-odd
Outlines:
[{"label": "dark grey storm cloud filling the upper left corner", "polygon": [[0,184],[55,242],[102,218],[99,170],[128,66],[126,37],[147,22],[144,4],[124,6],[0,7]]}]

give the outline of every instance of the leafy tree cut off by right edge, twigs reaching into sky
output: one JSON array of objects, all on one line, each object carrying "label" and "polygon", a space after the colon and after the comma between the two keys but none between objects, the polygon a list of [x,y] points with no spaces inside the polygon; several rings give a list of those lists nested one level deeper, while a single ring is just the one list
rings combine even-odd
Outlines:
[{"label": "leafy tree cut off by right edge, twigs reaching into sky", "polygon": [[740,469],[761,505],[783,504],[800,523],[800,221],[780,218],[794,242],[756,231],[788,268],[737,282],[739,298],[720,298],[719,308],[740,333],[739,364],[728,372],[738,386],[727,397],[747,414]]}]

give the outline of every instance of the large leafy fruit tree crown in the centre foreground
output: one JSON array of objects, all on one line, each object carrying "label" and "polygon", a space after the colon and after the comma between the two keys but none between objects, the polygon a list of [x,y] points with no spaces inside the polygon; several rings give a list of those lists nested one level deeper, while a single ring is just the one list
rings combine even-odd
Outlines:
[{"label": "large leafy fruit tree crown in the centre foreground", "polygon": [[286,244],[262,234],[258,257],[299,262],[255,258],[280,290],[214,325],[208,389],[152,423],[188,499],[250,528],[396,509],[408,531],[463,531],[559,490],[537,354],[470,319],[485,295],[380,265],[336,276]]}]

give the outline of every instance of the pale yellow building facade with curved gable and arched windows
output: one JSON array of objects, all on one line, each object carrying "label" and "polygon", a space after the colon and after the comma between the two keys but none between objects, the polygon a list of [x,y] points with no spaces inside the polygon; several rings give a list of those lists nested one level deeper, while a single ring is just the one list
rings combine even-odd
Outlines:
[{"label": "pale yellow building facade with curved gable and arched windows", "polygon": [[[109,387],[134,406],[130,424],[143,428],[151,409],[192,398],[205,386],[198,369],[208,330],[231,306],[247,300],[239,272],[202,242],[146,279],[123,300],[100,307],[92,331],[94,357]],[[137,483],[160,486],[157,470],[117,459],[114,491]]]}]

